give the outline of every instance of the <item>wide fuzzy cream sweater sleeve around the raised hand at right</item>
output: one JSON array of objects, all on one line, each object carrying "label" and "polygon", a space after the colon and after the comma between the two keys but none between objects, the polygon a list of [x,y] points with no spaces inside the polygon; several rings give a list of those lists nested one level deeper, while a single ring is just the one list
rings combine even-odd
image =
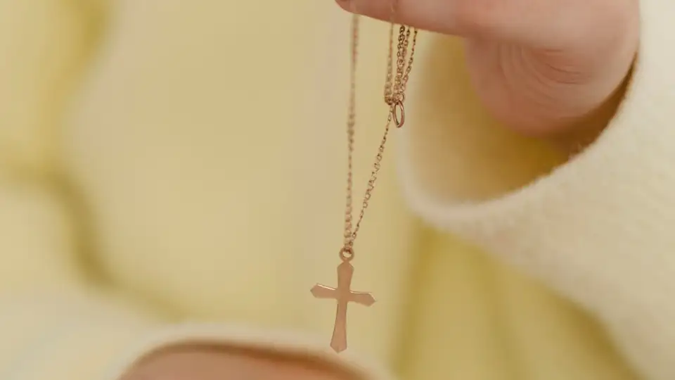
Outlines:
[{"label": "wide fuzzy cream sweater sleeve around the raised hand at right", "polygon": [[646,379],[667,380],[675,379],[675,4],[640,5],[626,95],[577,156],[500,129],[471,95],[461,46],[434,37],[420,50],[411,103],[419,106],[410,108],[399,167],[427,222],[546,281],[600,319]]}]

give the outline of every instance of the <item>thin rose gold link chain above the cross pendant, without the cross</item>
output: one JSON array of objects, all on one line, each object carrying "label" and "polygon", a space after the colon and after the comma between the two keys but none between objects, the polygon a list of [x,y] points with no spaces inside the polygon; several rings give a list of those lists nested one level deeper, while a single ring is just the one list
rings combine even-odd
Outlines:
[{"label": "thin rose gold link chain above the cross pendant, without the cross", "polygon": [[[361,202],[359,217],[354,223],[353,217],[353,182],[354,182],[354,127],[356,125],[356,61],[359,56],[359,16],[352,16],[352,64],[349,80],[349,106],[347,113],[347,203],[345,207],[345,234],[344,246],[340,251],[340,258],[343,261],[351,261],[354,258],[354,241],[361,229],[361,222],[364,220],[368,203],[375,190],[375,182],[378,180],[382,159],[385,153],[387,137],[392,126],[392,122],[397,127],[402,127],[405,122],[405,111],[403,103],[406,99],[406,84],[410,72],[413,68],[413,58],[415,56],[415,47],[417,44],[418,30],[416,28],[401,25],[399,27],[399,37],[396,53],[396,68],[394,70],[394,9],[396,0],[392,0],[392,22],[389,33],[389,56],[387,57],[387,77],[385,80],[384,100],[390,107],[385,124],[385,132],[378,152],[375,155],[375,162],[371,171],[371,177],[368,179],[366,193]],[[411,41],[412,37],[412,41]],[[409,54],[410,48],[410,54]],[[407,64],[406,64],[407,58]]]}]

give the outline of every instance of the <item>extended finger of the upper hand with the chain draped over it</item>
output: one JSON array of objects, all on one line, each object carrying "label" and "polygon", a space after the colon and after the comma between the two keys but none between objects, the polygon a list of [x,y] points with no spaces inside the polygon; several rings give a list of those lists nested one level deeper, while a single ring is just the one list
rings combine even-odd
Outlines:
[{"label": "extended finger of the upper hand with the chain draped over it", "polygon": [[[541,48],[578,42],[612,11],[597,0],[337,0],[345,10],[423,30]],[[605,9],[606,8],[606,9]],[[596,25],[597,27],[597,25]]]}]

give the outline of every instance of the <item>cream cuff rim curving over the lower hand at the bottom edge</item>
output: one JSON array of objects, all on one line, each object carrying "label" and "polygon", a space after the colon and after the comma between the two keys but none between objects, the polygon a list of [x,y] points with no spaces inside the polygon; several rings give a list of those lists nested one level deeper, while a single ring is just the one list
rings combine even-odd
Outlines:
[{"label": "cream cuff rim curving over the lower hand at the bottom edge", "polygon": [[385,369],[373,365],[373,361],[349,353],[337,355],[327,348],[325,342],[322,344],[297,331],[264,331],[222,324],[181,324],[150,331],[140,341],[136,339],[135,347],[127,350],[121,360],[113,363],[103,379],[119,380],[144,357],[172,346],[188,344],[307,358],[308,362],[311,360],[313,363],[325,363],[353,373],[354,379],[392,379]]}]

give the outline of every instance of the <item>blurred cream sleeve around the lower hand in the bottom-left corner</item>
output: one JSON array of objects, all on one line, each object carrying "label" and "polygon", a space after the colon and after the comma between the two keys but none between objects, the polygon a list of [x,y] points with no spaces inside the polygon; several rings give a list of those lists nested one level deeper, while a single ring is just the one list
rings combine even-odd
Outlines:
[{"label": "blurred cream sleeve around the lower hand in the bottom-left corner", "polygon": [[362,358],[330,353],[325,342],[295,331],[174,324],[142,310],[114,295],[85,289],[43,289],[1,298],[0,376],[120,380],[149,355],[176,346],[203,346],[255,357],[294,357],[299,365],[323,364],[355,379],[390,379]]}]

